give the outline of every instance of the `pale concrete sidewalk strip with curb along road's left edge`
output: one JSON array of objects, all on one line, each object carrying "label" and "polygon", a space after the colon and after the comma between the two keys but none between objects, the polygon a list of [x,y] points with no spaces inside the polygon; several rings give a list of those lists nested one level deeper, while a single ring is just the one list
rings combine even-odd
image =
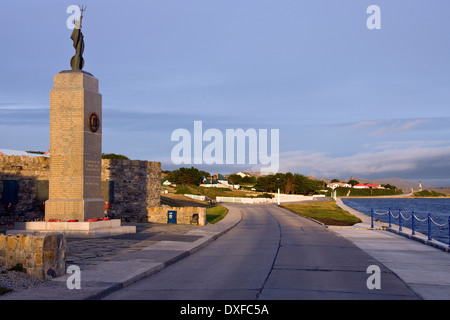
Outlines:
[{"label": "pale concrete sidewalk strip with curb along road's left edge", "polygon": [[[139,280],[156,274],[168,266],[200,251],[209,244],[226,234],[242,221],[242,211],[228,207],[227,215],[214,225],[208,225],[189,233],[203,234],[203,237],[194,243],[181,243],[183,249],[171,248],[172,241],[160,241],[144,248],[134,254],[164,251],[166,259],[155,261],[151,257],[127,260],[126,256],[116,260],[105,261],[92,268],[81,271],[82,289],[68,289],[67,283],[72,274],[51,279],[37,288],[4,295],[0,300],[98,300],[117,290],[127,287]],[[197,242],[197,243],[195,243]],[[173,253],[172,253],[173,252]],[[167,254],[168,253],[168,254]],[[132,255],[131,253],[130,255]],[[125,258],[124,258],[125,257]],[[129,263],[132,261],[132,264]]]}]

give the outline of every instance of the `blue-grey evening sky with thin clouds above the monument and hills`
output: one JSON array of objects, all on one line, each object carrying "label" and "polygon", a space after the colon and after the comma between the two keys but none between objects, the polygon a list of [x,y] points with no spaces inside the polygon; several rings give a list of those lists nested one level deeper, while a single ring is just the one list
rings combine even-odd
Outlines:
[{"label": "blue-grey evening sky with thin clouds above the monument and hills", "polygon": [[[2,2],[0,149],[48,150],[53,75],[69,70],[75,53],[66,26],[73,4]],[[104,153],[161,161],[165,170],[261,168],[248,157],[174,163],[181,140],[172,134],[184,129],[193,146],[201,121],[224,144],[230,129],[278,130],[279,172],[450,185],[448,0],[82,4],[84,70],[99,79]],[[367,27],[371,5],[380,29]]]}]

